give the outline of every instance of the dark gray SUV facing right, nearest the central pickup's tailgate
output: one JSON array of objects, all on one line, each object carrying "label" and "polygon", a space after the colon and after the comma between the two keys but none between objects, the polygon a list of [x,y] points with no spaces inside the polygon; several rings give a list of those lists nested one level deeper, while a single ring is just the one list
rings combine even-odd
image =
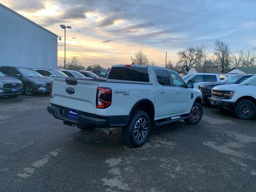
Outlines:
[{"label": "dark gray SUV facing right, nearest the central pickup's tailgate", "polygon": [[23,84],[25,95],[33,96],[36,93],[50,92],[50,82],[52,80],[31,68],[1,66],[0,71],[7,76],[19,79]]}]

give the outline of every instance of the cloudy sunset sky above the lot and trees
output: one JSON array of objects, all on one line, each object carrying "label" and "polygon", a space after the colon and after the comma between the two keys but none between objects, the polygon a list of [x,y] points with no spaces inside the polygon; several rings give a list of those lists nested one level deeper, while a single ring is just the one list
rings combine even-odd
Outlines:
[{"label": "cloudy sunset sky above the lot and trees", "polygon": [[58,65],[66,58],[83,66],[130,64],[142,50],[158,66],[178,61],[177,52],[216,39],[231,52],[256,47],[256,0],[0,0],[48,30],[58,41]]}]

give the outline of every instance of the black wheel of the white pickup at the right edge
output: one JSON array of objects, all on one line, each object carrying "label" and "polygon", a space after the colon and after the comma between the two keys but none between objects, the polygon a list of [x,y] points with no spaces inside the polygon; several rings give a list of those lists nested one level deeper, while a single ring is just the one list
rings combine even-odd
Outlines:
[{"label": "black wheel of the white pickup at the right edge", "polygon": [[256,115],[256,105],[248,99],[240,100],[235,105],[234,114],[240,119],[251,119]]}]

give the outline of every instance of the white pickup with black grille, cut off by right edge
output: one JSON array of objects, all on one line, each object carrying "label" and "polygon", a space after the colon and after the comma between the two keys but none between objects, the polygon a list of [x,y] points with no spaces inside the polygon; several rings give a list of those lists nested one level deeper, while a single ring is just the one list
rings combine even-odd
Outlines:
[{"label": "white pickup with black grille, cut off by right edge", "polygon": [[240,119],[253,118],[256,115],[256,75],[240,84],[215,86],[210,103],[232,110]]}]

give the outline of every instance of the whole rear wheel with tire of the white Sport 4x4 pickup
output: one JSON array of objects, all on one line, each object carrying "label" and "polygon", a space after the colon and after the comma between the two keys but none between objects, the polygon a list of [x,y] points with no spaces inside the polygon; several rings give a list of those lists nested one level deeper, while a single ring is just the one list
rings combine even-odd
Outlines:
[{"label": "whole rear wheel with tire of the white Sport 4x4 pickup", "polygon": [[129,147],[142,146],[150,134],[150,118],[144,111],[136,111],[128,126],[122,128],[124,143]]}]

